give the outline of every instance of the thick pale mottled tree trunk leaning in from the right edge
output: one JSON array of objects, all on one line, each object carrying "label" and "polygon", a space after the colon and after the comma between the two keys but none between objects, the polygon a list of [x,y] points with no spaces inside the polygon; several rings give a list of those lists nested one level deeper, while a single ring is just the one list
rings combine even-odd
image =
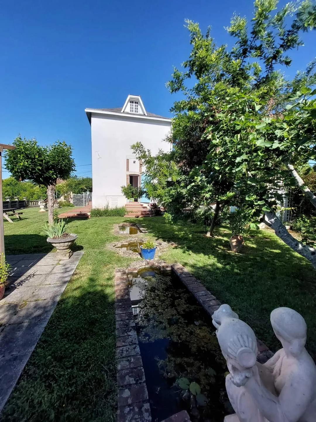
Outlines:
[{"label": "thick pale mottled tree trunk leaning in from the right edge", "polygon": [[274,211],[264,211],[268,221],[276,232],[276,235],[284,241],[293,251],[302,255],[310,261],[314,268],[316,268],[316,249],[311,246],[304,245],[295,239],[285,228],[284,224],[280,221],[279,217]]}]

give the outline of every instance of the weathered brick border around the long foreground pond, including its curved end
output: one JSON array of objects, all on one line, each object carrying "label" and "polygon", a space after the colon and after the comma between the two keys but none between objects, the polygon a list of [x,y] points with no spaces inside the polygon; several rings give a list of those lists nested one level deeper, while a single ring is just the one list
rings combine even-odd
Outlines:
[{"label": "weathered brick border around the long foreground pond, including its curved end", "polygon": [[[151,422],[152,420],[128,286],[129,278],[137,277],[140,270],[148,267],[155,269],[161,275],[175,273],[210,316],[222,304],[181,264],[169,265],[163,260],[140,260],[132,262],[128,268],[115,268],[118,422]],[[257,360],[264,363],[273,354],[258,339],[257,346]],[[190,422],[190,418],[187,412],[182,411],[164,422]]]}]

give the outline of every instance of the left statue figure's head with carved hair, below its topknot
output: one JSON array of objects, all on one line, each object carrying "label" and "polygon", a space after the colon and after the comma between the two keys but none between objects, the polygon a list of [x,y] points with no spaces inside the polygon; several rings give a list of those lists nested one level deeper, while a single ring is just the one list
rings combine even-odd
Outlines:
[{"label": "left statue figure's head with carved hair, below its topknot", "polygon": [[226,359],[232,382],[240,387],[252,376],[257,361],[257,339],[244,321],[226,318],[217,330],[217,339]]}]

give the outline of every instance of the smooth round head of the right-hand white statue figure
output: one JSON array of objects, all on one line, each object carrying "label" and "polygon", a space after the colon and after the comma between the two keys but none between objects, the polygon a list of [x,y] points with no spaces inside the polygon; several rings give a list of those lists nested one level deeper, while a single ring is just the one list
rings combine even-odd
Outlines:
[{"label": "smooth round head of the right-hand white statue figure", "polygon": [[285,352],[298,357],[306,343],[307,327],[302,315],[291,308],[276,308],[270,314],[270,321]]}]

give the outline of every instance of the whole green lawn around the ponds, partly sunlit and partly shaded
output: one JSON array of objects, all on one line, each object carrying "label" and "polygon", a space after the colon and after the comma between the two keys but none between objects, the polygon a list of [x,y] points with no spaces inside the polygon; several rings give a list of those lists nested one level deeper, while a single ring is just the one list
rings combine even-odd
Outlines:
[{"label": "whole green lawn around the ponds, partly sunlit and partly shaded", "polygon": [[[47,215],[27,209],[22,221],[5,222],[6,253],[48,252]],[[115,267],[131,259],[107,251],[121,217],[72,220],[76,248],[84,250],[35,351],[2,414],[5,421],[114,421],[116,419]],[[185,265],[223,303],[229,303],[273,350],[278,347],[269,314],[277,306],[299,311],[308,324],[308,350],[316,357],[315,271],[270,230],[253,232],[241,254],[230,252],[229,233],[206,238],[190,223],[166,225],[162,217],[139,219],[148,236],[174,241],[162,258]]]}]

